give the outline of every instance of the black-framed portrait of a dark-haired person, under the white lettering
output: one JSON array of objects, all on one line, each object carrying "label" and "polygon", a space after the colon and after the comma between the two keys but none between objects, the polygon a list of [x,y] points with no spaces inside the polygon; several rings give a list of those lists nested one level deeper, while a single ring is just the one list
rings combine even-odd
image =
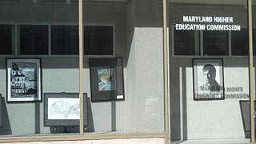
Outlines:
[{"label": "black-framed portrait of a dark-haired person, under the white lettering", "polygon": [[224,99],[223,60],[193,59],[194,100]]}]

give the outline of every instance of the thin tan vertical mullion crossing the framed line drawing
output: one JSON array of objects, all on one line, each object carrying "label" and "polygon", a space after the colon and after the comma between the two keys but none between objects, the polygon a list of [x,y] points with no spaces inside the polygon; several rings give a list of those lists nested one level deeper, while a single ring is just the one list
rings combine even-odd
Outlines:
[{"label": "thin tan vertical mullion crossing the framed line drawing", "polygon": [[82,22],[82,0],[78,2],[79,15],[79,99],[80,99],[80,135],[83,135],[83,22]]}]

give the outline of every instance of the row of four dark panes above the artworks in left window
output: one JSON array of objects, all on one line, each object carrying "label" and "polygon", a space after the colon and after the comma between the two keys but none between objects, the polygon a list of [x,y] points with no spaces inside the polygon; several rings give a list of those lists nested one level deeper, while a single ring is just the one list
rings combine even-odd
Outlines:
[{"label": "row of four dark panes above the artworks in left window", "polygon": [[[0,46],[4,47],[0,54],[14,54],[16,49],[20,55],[79,54],[78,26],[53,25],[50,30],[48,27],[18,25],[18,45],[14,47],[14,26],[0,25]],[[114,55],[113,33],[113,26],[84,26],[84,54]]]}]

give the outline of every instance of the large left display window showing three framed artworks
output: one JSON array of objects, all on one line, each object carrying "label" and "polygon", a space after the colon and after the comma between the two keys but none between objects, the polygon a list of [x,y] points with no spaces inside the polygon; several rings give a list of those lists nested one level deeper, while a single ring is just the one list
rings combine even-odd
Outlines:
[{"label": "large left display window showing three framed artworks", "polygon": [[79,2],[0,2],[0,142],[167,139],[162,1]]}]

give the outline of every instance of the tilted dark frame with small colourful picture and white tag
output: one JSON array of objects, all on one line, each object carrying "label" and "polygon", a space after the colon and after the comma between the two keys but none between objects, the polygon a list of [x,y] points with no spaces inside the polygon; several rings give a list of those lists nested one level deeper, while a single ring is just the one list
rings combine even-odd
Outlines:
[{"label": "tilted dark frame with small colourful picture and white tag", "polygon": [[124,100],[122,58],[90,58],[92,102]]}]

